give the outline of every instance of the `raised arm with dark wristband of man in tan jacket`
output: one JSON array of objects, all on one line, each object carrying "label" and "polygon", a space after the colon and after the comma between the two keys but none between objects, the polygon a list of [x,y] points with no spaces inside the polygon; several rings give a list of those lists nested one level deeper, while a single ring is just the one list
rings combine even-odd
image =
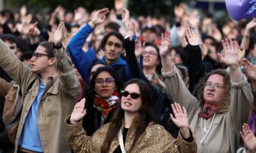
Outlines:
[{"label": "raised arm with dark wristband of man in tan jacket", "polygon": [[[77,99],[81,92],[81,85],[77,79],[72,64],[68,61],[67,52],[62,46],[62,41],[65,40],[66,30],[63,19],[61,20],[58,29],[53,35],[54,54],[56,57],[56,65],[58,69],[58,77],[60,78],[60,87],[63,92],[70,98]],[[61,47],[61,48],[60,48]]]}]

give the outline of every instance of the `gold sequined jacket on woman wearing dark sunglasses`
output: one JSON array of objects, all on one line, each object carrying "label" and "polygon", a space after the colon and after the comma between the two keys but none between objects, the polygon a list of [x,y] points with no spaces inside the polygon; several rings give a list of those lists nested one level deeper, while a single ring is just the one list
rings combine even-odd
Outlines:
[{"label": "gold sequined jacket on woman wearing dark sunglasses", "polygon": [[[98,129],[93,136],[87,136],[82,128],[82,121],[75,125],[67,124],[70,115],[65,119],[67,141],[74,152],[100,152],[100,147],[105,140],[108,132],[109,123]],[[132,145],[135,133],[134,124],[127,132],[125,140],[125,150],[129,150]],[[111,143],[109,152],[113,152],[118,147],[118,136]],[[196,152],[195,140],[191,143],[186,142],[179,136],[173,138],[163,126],[151,122],[145,129],[145,135],[140,136],[132,152]]]}]

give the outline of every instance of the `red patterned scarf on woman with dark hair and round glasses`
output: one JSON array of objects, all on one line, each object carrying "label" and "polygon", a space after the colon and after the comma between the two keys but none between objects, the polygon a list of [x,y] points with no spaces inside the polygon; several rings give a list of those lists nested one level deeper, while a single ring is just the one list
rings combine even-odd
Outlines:
[{"label": "red patterned scarf on woman with dark hair and round glasses", "polygon": [[108,98],[102,98],[98,95],[95,95],[93,106],[97,110],[99,110],[99,112],[102,113],[101,120],[100,120],[100,126],[103,126],[104,121],[108,117],[108,113],[111,112],[111,110],[115,109],[116,105],[118,103],[120,103],[120,101],[121,101],[121,95],[117,91],[115,91]]}]

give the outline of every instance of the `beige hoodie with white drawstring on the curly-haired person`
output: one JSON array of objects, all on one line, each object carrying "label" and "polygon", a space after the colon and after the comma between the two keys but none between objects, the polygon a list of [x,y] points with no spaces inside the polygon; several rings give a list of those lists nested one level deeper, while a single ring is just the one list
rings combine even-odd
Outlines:
[{"label": "beige hoodie with white drawstring on the curly-haired person", "polygon": [[[190,94],[177,73],[177,68],[174,66],[172,71],[162,71],[162,74],[168,97],[171,101],[180,103],[188,112],[189,127],[195,135],[197,152],[236,152],[239,147],[239,132],[243,123],[248,120],[253,102],[251,87],[245,75],[241,82],[231,80],[228,112],[216,112],[215,117],[205,120],[198,116],[201,111],[200,101]],[[206,137],[204,127],[209,130]]]}]

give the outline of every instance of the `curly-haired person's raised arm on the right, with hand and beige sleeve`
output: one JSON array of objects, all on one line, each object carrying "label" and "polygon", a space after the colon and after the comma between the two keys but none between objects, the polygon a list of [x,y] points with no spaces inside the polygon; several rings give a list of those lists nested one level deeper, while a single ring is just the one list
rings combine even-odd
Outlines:
[{"label": "curly-haired person's raised arm on the right, with hand and beige sleeve", "polygon": [[244,122],[248,121],[253,96],[247,78],[238,66],[238,43],[232,40],[222,41],[225,55],[218,54],[220,61],[230,68],[231,89],[228,121],[238,132]]}]

